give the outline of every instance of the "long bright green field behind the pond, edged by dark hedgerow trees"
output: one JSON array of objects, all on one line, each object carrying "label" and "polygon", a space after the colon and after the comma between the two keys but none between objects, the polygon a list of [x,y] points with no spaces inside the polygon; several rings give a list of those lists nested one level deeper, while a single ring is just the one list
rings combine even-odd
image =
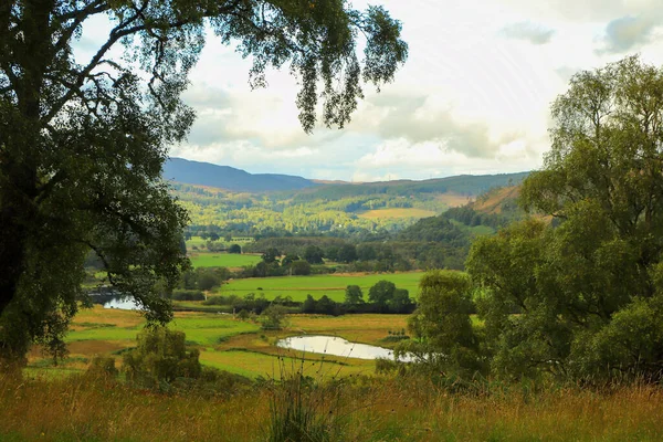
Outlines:
[{"label": "long bright green field behind the pond, edged by dark hedgerow trees", "polygon": [[343,302],[345,290],[348,285],[358,285],[364,292],[365,298],[368,291],[378,281],[390,281],[398,288],[406,288],[410,296],[419,295],[419,280],[423,272],[386,273],[386,274],[340,274],[340,275],[315,275],[315,276],[280,276],[280,277],[251,277],[246,280],[234,280],[221,286],[222,295],[235,294],[244,296],[249,293],[264,294],[267,299],[276,296],[290,296],[293,301],[303,302],[311,294],[318,299],[327,295],[336,302]]}]

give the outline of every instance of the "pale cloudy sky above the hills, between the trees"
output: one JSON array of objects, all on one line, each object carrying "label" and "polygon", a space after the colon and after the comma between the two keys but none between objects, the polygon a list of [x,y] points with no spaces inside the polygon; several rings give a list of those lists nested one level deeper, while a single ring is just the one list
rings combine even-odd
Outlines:
[{"label": "pale cloudy sky above the hills, between the trees", "polygon": [[[197,112],[170,155],[252,173],[376,181],[540,168],[549,107],[569,78],[640,54],[663,64],[655,0],[382,0],[402,22],[409,59],[380,93],[365,87],[344,129],[297,119],[296,78],[267,72],[210,36],[183,94]],[[365,9],[365,1],[354,1]],[[104,27],[84,29],[102,32]]]}]

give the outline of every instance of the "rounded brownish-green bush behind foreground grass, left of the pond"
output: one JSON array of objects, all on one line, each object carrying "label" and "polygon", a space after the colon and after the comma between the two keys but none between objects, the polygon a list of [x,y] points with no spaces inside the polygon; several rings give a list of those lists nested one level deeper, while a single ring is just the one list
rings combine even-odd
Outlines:
[{"label": "rounded brownish-green bush behind foreground grass, left of the pond", "polygon": [[200,377],[200,351],[187,351],[183,332],[152,327],[140,332],[136,339],[136,349],[123,357],[127,379],[147,387],[158,387],[177,378]]}]

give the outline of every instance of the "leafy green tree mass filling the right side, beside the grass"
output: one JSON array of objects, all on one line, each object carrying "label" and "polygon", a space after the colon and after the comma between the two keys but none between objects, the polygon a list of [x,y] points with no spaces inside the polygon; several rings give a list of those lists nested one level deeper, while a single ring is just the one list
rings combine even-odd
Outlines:
[{"label": "leafy green tree mass filling the right side, beside the grass", "polygon": [[552,122],[552,148],[522,198],[555,222],[481,239],[467,261],[488,294],[480,309],[494,368],[660,379],[663,70],[633,56],[580,72]]}]

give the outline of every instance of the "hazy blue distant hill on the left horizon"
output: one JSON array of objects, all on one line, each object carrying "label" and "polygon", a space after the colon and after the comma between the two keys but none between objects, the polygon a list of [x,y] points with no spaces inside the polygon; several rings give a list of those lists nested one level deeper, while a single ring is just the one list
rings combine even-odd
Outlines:
[{"label": "hazy blue distant hill on the left horizon", "polygon": [[317,186],[306,178],[276,173],[249,173],[229,166],[170,158],[164,178],[188,185],[209,186],[236,192],[292,191]]}]

